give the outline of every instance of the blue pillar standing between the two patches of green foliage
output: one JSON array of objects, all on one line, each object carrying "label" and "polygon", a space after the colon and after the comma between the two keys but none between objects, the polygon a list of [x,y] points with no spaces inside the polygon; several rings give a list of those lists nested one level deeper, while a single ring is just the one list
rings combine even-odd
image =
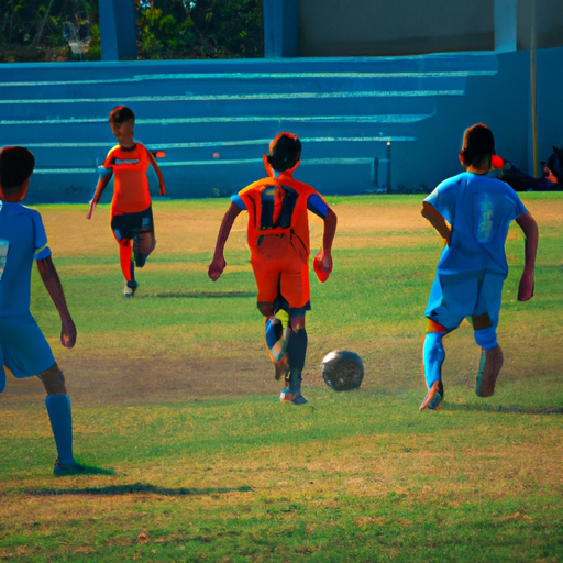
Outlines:
[{"label": "blue pillar standing between the two patches of green foliage", "polygon": [[102,60],[135,60],[136,27],[133,0],[99,0]]}]

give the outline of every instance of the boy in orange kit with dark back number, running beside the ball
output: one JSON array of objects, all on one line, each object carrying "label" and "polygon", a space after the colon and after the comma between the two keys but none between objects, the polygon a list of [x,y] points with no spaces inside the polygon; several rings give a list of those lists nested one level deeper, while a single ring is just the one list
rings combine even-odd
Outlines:
[{"label": "boy in orange kit with dark back number, running beside the ball", "polygon": [[264,155],[267,177],[231,198],[217,239],[208,275],[216,282],[227,263],[223,250],[236,217],[249,212],[247,244],[258,289],[257,307],[265,317],[266,347],[276,365],[276,379],[284,376],[282,402],[303,405],[301,374],[307,353],[305,314],[310,310],[308,211],[324,221],[322,250],[314,271],[325,282],[332,271],[332,241],[336,216],[311,186],[294,179],[301,157],[301,142],[279,133]]}]

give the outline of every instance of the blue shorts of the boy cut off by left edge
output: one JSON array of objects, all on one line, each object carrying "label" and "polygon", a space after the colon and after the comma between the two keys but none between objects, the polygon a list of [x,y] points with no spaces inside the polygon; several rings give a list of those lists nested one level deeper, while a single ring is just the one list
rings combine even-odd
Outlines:
[{"label": "blue shorts of the boy cut off by left edge", "polygon": [[54,364],[51,346],[30,312],[0,318],[0,393],[5,387],[3,366],[21,378],[40,375]]}]

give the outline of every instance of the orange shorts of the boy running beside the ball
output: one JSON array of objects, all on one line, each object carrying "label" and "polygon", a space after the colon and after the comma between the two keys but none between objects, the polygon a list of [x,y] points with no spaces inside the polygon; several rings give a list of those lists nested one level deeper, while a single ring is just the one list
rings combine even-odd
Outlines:
[{"label": "orange shorts of the boy running beside the ball", "polygon": [[309,257],[302,244],[287,234],[267,234],[253,250],[252,269],[258,303],[273,303],[280,295],[291,309],[310,299]]}]

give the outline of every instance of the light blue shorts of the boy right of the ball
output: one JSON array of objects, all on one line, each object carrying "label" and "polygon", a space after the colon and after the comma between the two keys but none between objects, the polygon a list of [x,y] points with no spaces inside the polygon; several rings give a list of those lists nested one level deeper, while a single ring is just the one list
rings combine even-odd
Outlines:
[{"label": "light blue shorts of the boy right of the ball", "polygon": [[498,325],[505,276],[481,273],[437,274],[428,299],[427,318],[449,331],[466,317],[488,313],[493,328]]}]

